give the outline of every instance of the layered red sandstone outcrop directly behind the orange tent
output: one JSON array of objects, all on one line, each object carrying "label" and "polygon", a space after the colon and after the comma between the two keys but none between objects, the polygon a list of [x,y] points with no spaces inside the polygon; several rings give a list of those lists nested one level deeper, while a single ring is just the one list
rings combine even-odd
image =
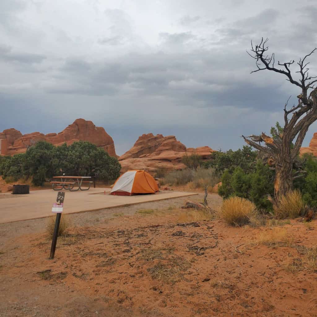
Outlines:
[{"label": "layered red sandstone outcrop directly behind the orange tent", "polygon": [[175,136],[164,137],[162,134],[143,134],[134,146],[120,156],[121,172],[131,169],[140,169],[154,172],[158,168],[182,169],[185,165],[181,162],[183,155],[196,153],[202,159],[208,159],[214,152],[210,147],[186,148]]}]

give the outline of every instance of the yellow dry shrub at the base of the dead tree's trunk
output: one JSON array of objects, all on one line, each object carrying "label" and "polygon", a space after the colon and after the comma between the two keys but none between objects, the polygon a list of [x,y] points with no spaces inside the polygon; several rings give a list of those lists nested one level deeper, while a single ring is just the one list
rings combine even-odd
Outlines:
[{"label": "yellow dry shrub at the base of the dead tree's trunk", "polygon": [[298,189],[289,191],[278,204],[273,206],[275,216],[280,219],[287,217],[294,219],[300,215],[304,208],[301,192]]}]

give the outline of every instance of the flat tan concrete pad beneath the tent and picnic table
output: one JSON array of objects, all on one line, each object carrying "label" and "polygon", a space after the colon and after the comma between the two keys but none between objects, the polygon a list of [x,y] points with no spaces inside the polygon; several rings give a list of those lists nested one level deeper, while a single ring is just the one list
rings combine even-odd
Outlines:
[{"label": "flat tan concrete pad beneath the tent and picnic table", "polygon": [[[103,195],[106,191],[106,195]],[[153,195],[112,196],[110,188],[91,188],[89,191],[65,191],[63,214],[93,211],[139,204],[161,199],[196,195],[179,191],[159,192]],[[3,194],[0,196],[0,223],[43,218],[55,215],[52,204],[58,191],[30,191],[29,195]]]}]

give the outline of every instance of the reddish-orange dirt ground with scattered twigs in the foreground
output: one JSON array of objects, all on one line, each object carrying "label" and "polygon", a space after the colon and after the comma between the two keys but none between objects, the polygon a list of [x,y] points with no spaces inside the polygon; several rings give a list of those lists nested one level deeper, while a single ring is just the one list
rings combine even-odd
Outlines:
[{"label": "reddish-orange dirt ground with scattered twigs in the foreground", "polygon": [[54,260],[47,219],[0,225],[0,316],[317,316],[316,220],[233,228],[185,200],[69,215]]}]

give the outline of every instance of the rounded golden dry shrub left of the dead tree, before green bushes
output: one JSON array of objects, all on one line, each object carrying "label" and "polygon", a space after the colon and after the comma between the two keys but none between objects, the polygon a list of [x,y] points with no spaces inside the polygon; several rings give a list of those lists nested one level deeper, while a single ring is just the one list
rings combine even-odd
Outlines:
[{"label": "rounded golden dry shrub left of the dead tree, before green bushes", "polygon": [[256,205],[248,199],[233,196],[223,201],[219,216],[228,224],[244,225],[257,216]]}]

